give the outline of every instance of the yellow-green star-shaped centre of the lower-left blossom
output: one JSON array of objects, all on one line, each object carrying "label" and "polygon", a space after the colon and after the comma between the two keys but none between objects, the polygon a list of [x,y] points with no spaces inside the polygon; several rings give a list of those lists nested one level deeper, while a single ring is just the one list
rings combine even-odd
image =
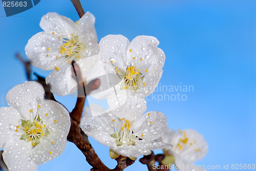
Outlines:
[{"label": "yellow-green star-shaped centre of the lower-left blossom", "polygon": [[50,134],[46,125],[42,123],[39,115],[34,118],[33,122],[30,120],[22,120],[22,130],[25,133],[22,134],[20,139],[26,142],[31,141],[33,147],[40,143],[40,138],[47,137]]}]

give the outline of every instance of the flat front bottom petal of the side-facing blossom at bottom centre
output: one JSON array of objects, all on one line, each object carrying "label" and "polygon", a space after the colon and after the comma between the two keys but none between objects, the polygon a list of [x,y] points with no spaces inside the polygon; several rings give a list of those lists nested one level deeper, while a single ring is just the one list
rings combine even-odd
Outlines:
[{"label": "flat front bottom petal of the side-facing blossom at bottom centre", "polygon": [[126,157],[138,157],[140,155],[150,155],[153,149],[162,149],[168,146],[168,144],[156,141],[148,141],[148,140],[136,140],[135,145],[127,145],[123,143],[120,146],[117,146],[116,143],[111,144],[110,148]]}]

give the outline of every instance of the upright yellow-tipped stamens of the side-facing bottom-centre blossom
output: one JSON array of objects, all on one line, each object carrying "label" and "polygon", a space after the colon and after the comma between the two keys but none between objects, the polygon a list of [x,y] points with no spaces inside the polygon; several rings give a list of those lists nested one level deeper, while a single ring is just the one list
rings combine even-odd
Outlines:
[{"label": "upright yellow-tipped stamens of the side-facing bottom-centre blossom", "polygon": [[115,134],[112,134],[111,137],[116,138],[116,144],[118,146],[126,143],[127,145],[135,145],[134,139],[136,137],[133,135],[132,127],[134,121],[121,119],[119,124],[116,123],[115,119]]}]

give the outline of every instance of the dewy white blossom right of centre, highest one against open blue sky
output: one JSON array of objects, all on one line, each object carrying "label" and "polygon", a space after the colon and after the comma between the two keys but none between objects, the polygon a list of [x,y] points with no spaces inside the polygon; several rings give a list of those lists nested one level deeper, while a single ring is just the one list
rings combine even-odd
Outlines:
[{"label": "dewy white blossom right of centre, highest one against open blue sky", "polygon": [[106,73],[123,79],[120,90],[132,90],[141,98],[154,92],[162,76],[165,55],[153,36],[107,35],[99,42]]}]

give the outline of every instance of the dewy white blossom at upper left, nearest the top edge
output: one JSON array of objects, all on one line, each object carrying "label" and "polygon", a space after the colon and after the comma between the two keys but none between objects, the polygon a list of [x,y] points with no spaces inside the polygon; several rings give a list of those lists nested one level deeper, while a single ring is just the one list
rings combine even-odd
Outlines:
[{"label": "dewy white blossom at upper left, nearest the top edge", "polygon": [[[54,94],[67,95],[70,93],[67,82],[76,83],[71,75],[65,74],[72,61],[99,53],[94,23],[95,17],[90,12],[76,23],[70,18],[49,12],[41,18],[40,27],[44,31],[29,39],[25,51],[32,65],[42,70],[53,70],[46,81],[51,84]],[[87,67],[92,70],[95,61],[90,62]]]}]

